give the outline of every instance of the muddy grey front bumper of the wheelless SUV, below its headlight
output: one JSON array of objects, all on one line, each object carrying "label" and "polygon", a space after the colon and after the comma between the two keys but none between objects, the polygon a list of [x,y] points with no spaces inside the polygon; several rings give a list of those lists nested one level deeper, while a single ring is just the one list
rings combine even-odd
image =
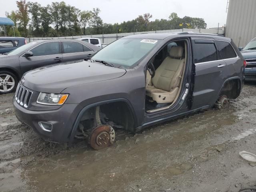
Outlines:
[{"label": "muddy grey front bumper of the wheelless SUV, below its headlight", "polygon": [[[44,140],[66,143],[70,141],[74,122],[82,109],[78,104],[63,104],[57,110],[31,111],[20,106],[15,98],[13,99],[14,110],[18,120],[31,127]],[[52,124],[52,131],[43,130],[38,122],[49,122]]]}]

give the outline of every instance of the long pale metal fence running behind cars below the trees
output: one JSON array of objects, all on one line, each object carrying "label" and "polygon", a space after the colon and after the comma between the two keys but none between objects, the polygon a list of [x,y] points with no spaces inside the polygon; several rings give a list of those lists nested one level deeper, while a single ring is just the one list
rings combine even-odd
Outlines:
[{"label": "long pale metal fence running behind cars below the trees", "polygon": [[104,44],[110,44],[115,40],[122,38],[124,36],[142,34],[142,33],[170,33],[170,32],[201,32],[209,34],[222,34],[225,35],[225,27],[221,28],[210,28],[210,29],[173,29],[173,30],[156,30],[156,31],[144,31],[144,32],[131,32],[131,33],[116,33],[116,34],[98,34],[98,35],[79,35],[79,36],[64,36],[64,37],[42,37],[42,38],[26,38],[27,42],[33,42],[37,40],[46,40],[46,39],[77,39],[77,38],[100,38],[101,42]]}]

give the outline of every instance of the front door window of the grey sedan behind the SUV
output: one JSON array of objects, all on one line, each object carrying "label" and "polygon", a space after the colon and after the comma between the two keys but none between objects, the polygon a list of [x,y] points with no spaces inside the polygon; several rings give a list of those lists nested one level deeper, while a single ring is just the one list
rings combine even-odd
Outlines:
[{"label": "front door window of the grey sedan behind the SUV", "polygon": [[32,48],[30,51],[33,52],[33,56],[60,54],[60,44],[59,42],[46,42]]}]

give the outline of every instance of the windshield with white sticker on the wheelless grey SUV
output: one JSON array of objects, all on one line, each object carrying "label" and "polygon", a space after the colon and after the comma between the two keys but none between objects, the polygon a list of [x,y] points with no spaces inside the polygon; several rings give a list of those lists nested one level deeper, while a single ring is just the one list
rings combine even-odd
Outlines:
[{"label": "windshield with white sticker on the wheelless grey SUV", "polygon": [[92,59],[130,68],[144,58],[159,40],[121,38],[97,52]]}]

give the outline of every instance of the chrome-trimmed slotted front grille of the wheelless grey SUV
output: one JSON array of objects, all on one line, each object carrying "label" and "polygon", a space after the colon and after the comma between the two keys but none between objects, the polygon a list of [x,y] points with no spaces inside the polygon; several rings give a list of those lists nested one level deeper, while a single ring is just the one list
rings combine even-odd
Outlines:
[{"label": "chrome-trimmed slotted front grille of the wheelless grey SUV", "polygon": [[32,91],[29,91],[21,84],[18,84],[15,92],[15,100],[20,104],[20,106],[27,108],[32,94]]}]

